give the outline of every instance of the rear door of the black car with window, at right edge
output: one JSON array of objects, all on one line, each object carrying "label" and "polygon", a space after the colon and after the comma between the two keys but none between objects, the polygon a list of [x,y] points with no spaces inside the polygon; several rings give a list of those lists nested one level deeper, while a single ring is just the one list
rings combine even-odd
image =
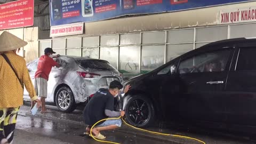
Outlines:
[{"label": "rear door of the black car with window, at right edge", "polygon": [[237,47],[226,95],[228,122],[256,126],[256,46]]}]

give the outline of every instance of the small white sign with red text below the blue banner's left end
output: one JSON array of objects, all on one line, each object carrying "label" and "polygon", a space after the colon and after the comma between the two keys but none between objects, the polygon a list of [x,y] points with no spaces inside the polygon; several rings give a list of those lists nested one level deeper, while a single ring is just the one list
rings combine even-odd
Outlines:
[{"label": "small white sign with red text below the blue banner's left end", "polygon": [[69,25],[51,27],[50,37],[83,34],[83,23],[72,23]]}]

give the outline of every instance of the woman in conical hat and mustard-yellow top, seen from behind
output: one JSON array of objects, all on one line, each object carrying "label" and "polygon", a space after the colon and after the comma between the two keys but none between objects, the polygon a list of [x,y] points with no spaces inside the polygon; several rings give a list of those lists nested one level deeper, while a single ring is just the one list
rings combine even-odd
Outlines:
[{"label": "woman in conical hat and mustard-yellow top, seen from behind", "polygon": [[[27,45],[27,42],[4,31],[0,35],[0,143],[12,143],[16,118],[23,105],[23,87],[25,85],[31,101],[41,101],[29,77],[26,61],[15,51]],[[12,69],[13,68],[13,69]],[[16,74],[15,74],[16,73]]]}]

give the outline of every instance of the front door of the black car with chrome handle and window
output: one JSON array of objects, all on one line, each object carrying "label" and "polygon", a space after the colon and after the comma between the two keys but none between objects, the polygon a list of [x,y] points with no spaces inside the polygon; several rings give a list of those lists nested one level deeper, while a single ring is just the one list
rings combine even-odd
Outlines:
[{"label": "front door of the black car with chrome handle and window", "polygon": [[179,112],[183,118],[196,121],[226,121],[226,103],[222,100],[234,48],[208,47],[183,57],[178,67],[184,89]]}]

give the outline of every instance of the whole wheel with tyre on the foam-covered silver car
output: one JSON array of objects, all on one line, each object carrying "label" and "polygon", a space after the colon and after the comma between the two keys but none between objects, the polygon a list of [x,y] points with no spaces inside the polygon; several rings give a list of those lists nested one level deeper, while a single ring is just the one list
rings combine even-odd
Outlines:
[{"label": "whole wheel with tyre on the foam-covered silver car", "polygon": [[69,87],[60,87],[55,96],[55,104],[60,111],[65,113],[70,113],[76,109],[74,95]]}]

